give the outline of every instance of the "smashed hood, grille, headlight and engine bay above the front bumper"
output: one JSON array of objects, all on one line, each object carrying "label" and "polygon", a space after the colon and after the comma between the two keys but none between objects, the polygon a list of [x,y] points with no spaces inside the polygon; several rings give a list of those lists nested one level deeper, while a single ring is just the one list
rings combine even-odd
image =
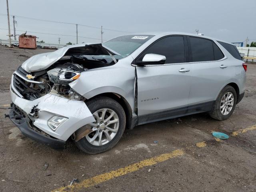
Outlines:
[{"label": "smashed hood, grille, headlight and engine bay above the front bumper", "polygon": [[12,88],[20,97],[35,100],[45,94],[54,94],[83,100],[69,83],[78,79],[81,72],[115,64],[117,60],[113,54],[118,54],[102,44],[75,46],[56,52],[33,56],[35,58],[31,57],[14,72]]}]

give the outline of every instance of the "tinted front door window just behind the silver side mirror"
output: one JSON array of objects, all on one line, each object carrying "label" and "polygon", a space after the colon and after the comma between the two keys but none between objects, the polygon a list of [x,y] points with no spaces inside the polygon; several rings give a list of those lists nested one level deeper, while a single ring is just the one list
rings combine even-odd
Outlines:
[{"label": "tinted front door window just behind the silver side mirror", "polygon": [[166,57],[165,64],[184,63],[185,50],[183,36],[169,36],[156,41],[146,49],[137,61],[141,62],[143,57],[150,53],[164,55]]}]

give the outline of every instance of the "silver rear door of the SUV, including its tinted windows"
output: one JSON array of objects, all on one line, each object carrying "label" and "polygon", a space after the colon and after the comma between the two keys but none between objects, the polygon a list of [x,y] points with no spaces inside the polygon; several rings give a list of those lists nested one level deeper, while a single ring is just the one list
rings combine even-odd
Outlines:
[{"label": "silver rear door of the SUV, including its tinted windows", "polygon": [[188,45],[192,72],[188,105],[200,104],[198,110],[210,110],[219,90],[233,73],[212,40],[189,36]]}]

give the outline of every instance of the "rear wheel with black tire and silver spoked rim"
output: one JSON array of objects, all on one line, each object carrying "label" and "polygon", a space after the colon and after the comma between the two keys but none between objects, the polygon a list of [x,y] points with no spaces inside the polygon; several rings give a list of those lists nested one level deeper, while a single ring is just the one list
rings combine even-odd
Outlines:
[{"label": "rear wheel with black tire and silver spoked rim", "polygon": [[210,116],[216,120],[228,119],[236,108],[237,95],[232,86],[225,86],[218,95]]}]

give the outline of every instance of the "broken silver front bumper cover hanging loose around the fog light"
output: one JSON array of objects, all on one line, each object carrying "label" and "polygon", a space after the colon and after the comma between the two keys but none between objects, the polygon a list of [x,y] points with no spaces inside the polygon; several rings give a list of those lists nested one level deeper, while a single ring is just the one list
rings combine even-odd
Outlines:
[{"label": "broken silver front bumper cover hanging loose around the fog light", "polygon": [[[26,120],[27,125],[28,121],[30,121],[30,127],[42,130],[42,132],[45,132],[50,137],[62,140],[63,142],[82,126],[95,121],[92,113],[83,101],[68,100],[52,94],[46,94],[30,101],[15,94],[12,88],[10,88],[10,94],[13,104],[24,112],[25,118],[23,117],[22,119]],[[35,108],[38,109],[38,117],[33,113]],[[61,116],[68,119],[58,126],[56,130],[52,130],[48,126],[48,120],[53,116]],[[18,125],[16,124],[16,126]],[[22,131],[24,125],[18,127]]]}]

